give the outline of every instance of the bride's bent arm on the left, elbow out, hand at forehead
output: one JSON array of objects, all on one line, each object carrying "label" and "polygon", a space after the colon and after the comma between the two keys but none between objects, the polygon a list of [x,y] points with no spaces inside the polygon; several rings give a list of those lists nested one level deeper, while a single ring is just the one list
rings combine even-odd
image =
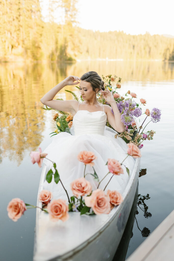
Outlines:
[{"label": "bride's bent arm on the left, elbow out, hand at forehead", "polygon": [[[55,110],[59,111],[69,111],[71,112],[74,110],[73,104],[74,100],[53,100],[55,95],[65,86],[67,85],[75,85],[79,84],[80,78],[74,75],[70,75],[67,78],[65,78],[63,81],[61,81],[59,84],[57,84],[55,87],[53,87],[49,92],[47,92],[41,99],[41,103],[43,103],[46,106],[49,106],[50,108],[53,108]],[[74,82],[77,81],[77,82]]]}]

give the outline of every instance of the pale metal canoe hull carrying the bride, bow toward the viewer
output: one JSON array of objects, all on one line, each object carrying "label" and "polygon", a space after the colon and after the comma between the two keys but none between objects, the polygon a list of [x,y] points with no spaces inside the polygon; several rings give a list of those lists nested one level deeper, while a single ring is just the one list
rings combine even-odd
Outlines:
[{"label": "pale metal canoe hull carrying the bride, bow toward the viewer", "polygon": [[[112,261],[133,204],[139,170],[140,158],[137,158],[123,193],[123,202],[109,214],[80,216],[80,212],[69,212],[66,222],[52,222],[47,213],[37,208],[33,260]],[[45,176],[46,165],[38,194],[43,190]],[[37,206],[42,206],[38,199]]]}]

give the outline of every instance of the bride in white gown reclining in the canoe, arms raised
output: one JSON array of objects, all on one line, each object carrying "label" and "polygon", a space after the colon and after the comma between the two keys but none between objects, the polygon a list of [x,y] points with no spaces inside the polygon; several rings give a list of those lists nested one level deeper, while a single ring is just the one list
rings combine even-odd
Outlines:
[{"label": "bride in white gown reclining in the canoe, arms raised", "polygon": [[[67,85],[77,85],[80,83],[80,94],[83,102],[76,100],[54,100],[55,95]],[[102,93],[105,101],[109,105],[103,105],[97,100],[97,93]],[[97,157],[94,160],[94,169],[99,180],[108,173],[106,162],[108,158],[116,159],[120,163],[127,156],[128,146],[122,138],[115,138],[117,132],[124,132],[125,126],[121,122],[121,114],[117,108],[112,93],[104,88],[104,81],[93,71],[87,72],[81,76],[68,76],[49,92],[47,92],[40,101],[53,109],[59,111],[68,111],[73,116],[73,124],[70,133],[61,132],[53,136],[52,143],[43,151],[47,153],[47,158],[56,163],[58,173],[69,196],[72,196],[70,183],[80,177],[83,177],[84,164],[77,159],[81,151],[92,151]],[[111,111],[113,110],[113,113]],[[106,126],[106,120],[115,129],[115,131]],[[47,166],[47,171],[52,167],[52,163],[45,159],[43,162]],[[122,168],[124,174],[114,175],[107,186],[107,189],[117,190],[123,193],[129,176],[127,167],[130,171],[134,167],[134,159],[129,156],[124,161]],[[90,165],[86,165],[85,174],[94,173]],[[111,173],[100,183],[99,188],[104,189],[111,178]],[[94,181],[92,175],[85,177],[92,185],[93,190],[97,189],[98,183]],[[59,182],[56,184],[52,179],[51,183],[44,182],[44,188],[52,191],[53,198],[67,199],[67,195]]]}]

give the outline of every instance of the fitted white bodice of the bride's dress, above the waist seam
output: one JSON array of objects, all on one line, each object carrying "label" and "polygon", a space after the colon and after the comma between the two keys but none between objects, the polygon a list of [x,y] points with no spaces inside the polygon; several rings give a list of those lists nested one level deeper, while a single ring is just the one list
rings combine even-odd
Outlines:
[{"label": "fitted white bodice of the bride's dress, above the waist seam", "polygon": [[73,117],[75,135],[100,134],[104,135],[107,115],[104,111],[78,110]]}]

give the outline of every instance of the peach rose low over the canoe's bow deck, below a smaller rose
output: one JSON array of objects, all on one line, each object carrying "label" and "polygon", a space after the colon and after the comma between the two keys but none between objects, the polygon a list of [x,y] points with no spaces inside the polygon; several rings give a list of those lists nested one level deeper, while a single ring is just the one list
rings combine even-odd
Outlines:
[{"label": "peach rose low over the canoe's bow deck, below a smaller rose", "polygon": [[59,219],[63,222],[67,221],[69,218],[68,210],[69,207],[66,205],[66,200],[63,199],[53,199],[47,205],[47,211],[52,221],[57,221]]}]

